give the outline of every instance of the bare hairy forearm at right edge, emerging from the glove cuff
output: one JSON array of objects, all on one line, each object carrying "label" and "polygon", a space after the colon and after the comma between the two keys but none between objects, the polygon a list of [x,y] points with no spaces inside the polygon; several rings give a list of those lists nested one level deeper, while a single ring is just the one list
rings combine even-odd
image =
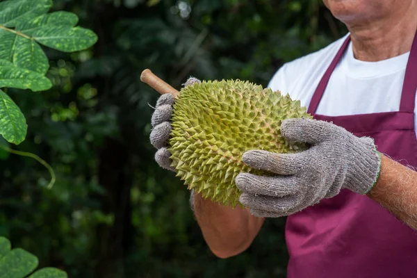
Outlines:
[{"label": "bare hairy forearm at right edge, emerging from the glove cuff", "polygon": [[368,196],[417,231],[417,172],[382,156],[379,179]]}]

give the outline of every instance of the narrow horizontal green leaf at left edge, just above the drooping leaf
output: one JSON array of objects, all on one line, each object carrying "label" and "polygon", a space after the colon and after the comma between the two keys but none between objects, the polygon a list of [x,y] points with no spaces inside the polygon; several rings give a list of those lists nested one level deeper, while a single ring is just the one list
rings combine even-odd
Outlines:
[{"label": "narrow horizontal green leaf at left edge, just above the drooping leaf", "polygon": [[2,87],[38,92],[48,90],[52,87],[52,83],[38,72],[22,69],[6,60],[0,60],[0,88]]}]

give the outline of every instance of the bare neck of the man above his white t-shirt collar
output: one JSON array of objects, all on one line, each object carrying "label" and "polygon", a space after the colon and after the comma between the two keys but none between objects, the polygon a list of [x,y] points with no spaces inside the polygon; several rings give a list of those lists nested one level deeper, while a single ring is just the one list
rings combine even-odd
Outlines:
[{"label": "bare neck of the man above his white t-shirt collar", "polygon": [[398,10],[392,18],[347,24],[354,58],[375,62],[410,51],[417,30],[417,1],[403,8],[403,13]]}]

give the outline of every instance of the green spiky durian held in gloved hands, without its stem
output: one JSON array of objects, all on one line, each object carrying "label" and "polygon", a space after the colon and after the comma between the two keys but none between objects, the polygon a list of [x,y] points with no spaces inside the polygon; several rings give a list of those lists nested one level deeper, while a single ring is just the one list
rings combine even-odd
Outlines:
[{"label": "green spiky durian held in gloved hands, without its stem", "polygon": [[235,207],[234,179],[254,170],[242,161],[251,149],[289,153],[306,149],[280,133],[281,121],[311,116],[300,101],[245,81],[203,81],[181,89],[174,104],[169,151],[177,176],[213,202]]}]

